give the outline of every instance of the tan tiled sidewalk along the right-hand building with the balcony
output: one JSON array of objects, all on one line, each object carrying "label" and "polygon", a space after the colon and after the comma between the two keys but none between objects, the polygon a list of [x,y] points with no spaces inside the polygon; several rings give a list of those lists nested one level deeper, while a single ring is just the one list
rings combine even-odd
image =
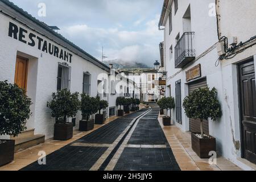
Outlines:
[{"label": "tan tiled sidewalk along the right-hand building with the balcony", "polygon": [[242,169],[223,157],[217,158],[217,165],[210,165],[208,159],[200,159],[191,148],[191,134],[184,133],[176,126],[163,126],[158,118],[177,163],[182,171],[241,171]]}]

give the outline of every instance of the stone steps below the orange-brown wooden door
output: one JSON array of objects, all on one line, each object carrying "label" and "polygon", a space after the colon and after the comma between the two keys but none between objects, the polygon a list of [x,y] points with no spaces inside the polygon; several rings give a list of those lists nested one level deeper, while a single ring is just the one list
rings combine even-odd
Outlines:
[{"label": "stone steps below the orange-brown wooden door", "polygon": [[33,135],[26,138],[15,139],[15,152],[20,152],[40,143],[44,143],[44,139],[44,135]]}]

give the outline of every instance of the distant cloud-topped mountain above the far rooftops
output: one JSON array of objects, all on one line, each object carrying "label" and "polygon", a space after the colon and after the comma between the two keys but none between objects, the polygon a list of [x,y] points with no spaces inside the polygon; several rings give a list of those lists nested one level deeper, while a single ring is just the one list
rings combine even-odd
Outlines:
[{"label": "distant cloud-topped mountain above the far rooftops", "polygon": [[151,67],[148,67],[148,65],[143,63],[137,63],[137,62],[122,63],[122,61],[119,61],[119,60],[108,60],[108,61],[103,61],[103,63],[106,65],[113,64],[114,69],[151,68]]}]

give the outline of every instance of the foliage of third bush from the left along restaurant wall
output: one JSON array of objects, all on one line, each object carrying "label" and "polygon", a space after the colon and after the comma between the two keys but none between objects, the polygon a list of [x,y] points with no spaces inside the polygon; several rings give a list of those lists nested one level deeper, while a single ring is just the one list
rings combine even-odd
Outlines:
[{"label": "foliage of third bush from the left along restaurant wall", "polygon": [[89,120],[90,115],[93,115],[100,110],[100,100],[96,97],[90,97],[87,94],[81,94],[81,112],[82,120]]}]

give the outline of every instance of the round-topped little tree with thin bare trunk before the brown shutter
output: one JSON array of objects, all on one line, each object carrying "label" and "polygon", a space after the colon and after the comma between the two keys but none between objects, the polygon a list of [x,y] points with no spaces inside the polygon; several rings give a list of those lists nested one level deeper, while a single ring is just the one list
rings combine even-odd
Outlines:
[{"label": "round-topped little tree with thin bare trunk before the brown shutter", "polygon": [[221,105],[218,101],[217,89],[199,88],[184,98],[183,107],[188,118],[200,119],[201,137],[204,138],[203,120],[221,118]]}]

